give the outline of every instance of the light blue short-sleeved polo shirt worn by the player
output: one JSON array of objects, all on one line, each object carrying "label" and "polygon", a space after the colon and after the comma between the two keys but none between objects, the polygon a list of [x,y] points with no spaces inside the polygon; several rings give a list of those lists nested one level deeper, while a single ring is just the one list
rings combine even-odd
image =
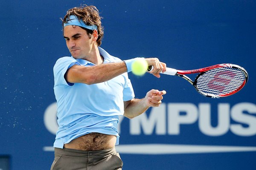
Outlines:
[{"label": "light blue short-sleeved polo shirt worn by the player", "polygon": [[[99,52],[104,57],[103,63],[122,61],[100,47]],[[116,144],[119,144],[117,123],[124,113],[123,101],[134,98],[128,74],[93,85],[69,83],[64,74],[73,65],[90,67],[95,64],[73,57],[62,57],[55,63],[54,93],[59,127],[53,146],[63,148],[71,140],[93,132],[115,135]]]}]

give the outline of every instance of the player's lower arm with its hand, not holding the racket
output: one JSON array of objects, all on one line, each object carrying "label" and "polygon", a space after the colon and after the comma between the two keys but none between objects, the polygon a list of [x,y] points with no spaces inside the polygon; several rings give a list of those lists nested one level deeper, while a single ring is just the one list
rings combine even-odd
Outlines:
[{"label": "player's lower arm with its hand, not holding the racket", "polygon": [[143,99],[131,99],[124,101],[124,116],[132,119],[144,113],[149,107],[158,107],[162,103],[163,95],[166,91],[152,89],[148,91]]}]

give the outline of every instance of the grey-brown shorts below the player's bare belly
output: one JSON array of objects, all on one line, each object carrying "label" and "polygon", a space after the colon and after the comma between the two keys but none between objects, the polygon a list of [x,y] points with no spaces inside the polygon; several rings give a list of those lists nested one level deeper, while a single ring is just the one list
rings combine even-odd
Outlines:
[{"label": "grey-brown shorts below the player's bare belly", "polygon": [[55,148],[51,170],[122,170],[123,162],[115,147],[84,151]]}]

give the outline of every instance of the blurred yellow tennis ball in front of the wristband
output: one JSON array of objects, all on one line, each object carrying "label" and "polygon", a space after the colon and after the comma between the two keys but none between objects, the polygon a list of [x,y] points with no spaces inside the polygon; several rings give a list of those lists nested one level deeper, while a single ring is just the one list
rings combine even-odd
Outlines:
[{"label": "blurred yellow tennis ball in front of the wristband", "polygon": [[131,64],[131,72],[137,76],[142,76],[148,69],[148,63],[144,58],[136,59]]}]

